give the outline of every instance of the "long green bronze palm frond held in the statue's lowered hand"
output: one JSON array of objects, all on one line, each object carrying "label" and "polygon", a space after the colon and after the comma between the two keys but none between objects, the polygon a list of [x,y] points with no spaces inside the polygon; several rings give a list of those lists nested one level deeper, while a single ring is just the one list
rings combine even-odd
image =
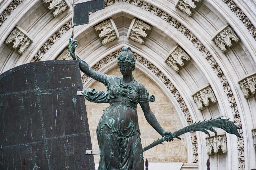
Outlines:
[{"label": "long green bronze palm frond held in the statue's lowered hand", "polygon": [[[213,119],[213,120],[211,118],[210,120],[208,120],[208,121],[204,120],[203,122],[199,121],[198,123],[194,123],[192,125],[189,125],[185,128],[182,128],[180,130],[173,132],[172,137],[173,138],[178,137],[178,136],[180,136],[184,133],[190,132],[190,131],[202,131],[210,136],[210,133],[207,130],[210,130],[210,131],[214,132],[215,135],[217,135],[217,131],[214,130],[213,128],[221,128],[221,129],[227,131],[227,133],[235,134],[236,136],[241,137],[241,135],[237,131],[237,129],[240,129],[240,128],[234,124],[235,122],[231,122],[231,121],[229,121],[229,119],[221,119],[222,117],[219,117],[219,118]],[[169,135],[164,136],[161,139],[157,139],[150,145],[144,147],[143,152],[158,145],[158,144],[162,144],[162,142],[164,142],[165,138],[168,136]]]}]

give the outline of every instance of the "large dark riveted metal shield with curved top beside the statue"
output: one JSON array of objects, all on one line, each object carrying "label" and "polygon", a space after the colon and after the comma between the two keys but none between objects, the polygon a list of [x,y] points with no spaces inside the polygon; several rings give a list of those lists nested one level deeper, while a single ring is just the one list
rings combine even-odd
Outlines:
[{"label": "large dark riveted metal shield with curved top beside the statue", "polygon": [[0,169],[95,169],[77,61],[24,64],[0,75]]}]

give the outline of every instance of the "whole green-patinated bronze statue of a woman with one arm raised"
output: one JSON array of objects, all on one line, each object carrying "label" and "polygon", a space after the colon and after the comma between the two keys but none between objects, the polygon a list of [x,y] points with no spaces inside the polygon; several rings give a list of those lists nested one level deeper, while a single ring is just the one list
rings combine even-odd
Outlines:
[{"label": "whole green-patinated bronze statue of a woman with one arm raised", "polygon": [[[69,50],[75,60],[77,41],[69,39]],[[97,139],[100,148],[98,170],[143,170],[143,150],[136,111],[139,103],[148,123],[162,136],[169,135],[167,141],[173,140],[172,133],[165,131],[150,110],[148,102],[154,102],[154,95],[132,76],[135,69],[135,57],[130,47],[123,47],[117,58],[117,64],[123,77],[103,74],[77,57],[80,69],[91,78],[107,86],[107,91],[86,89],[84,96],[95,103],[109,103],[97,127]]]}]

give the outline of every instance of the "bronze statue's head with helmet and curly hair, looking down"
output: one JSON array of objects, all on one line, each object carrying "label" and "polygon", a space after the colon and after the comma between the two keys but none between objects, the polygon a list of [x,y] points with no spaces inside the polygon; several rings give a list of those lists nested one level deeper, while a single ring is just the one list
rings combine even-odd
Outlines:
[{"label": "bronze statue's head with helmet and curly hair, looking down", "polygon": [[[124,74],[128,74],[128,70],[121,70],[122,67],[130,67],[130,71],[133,71],[135,69],[135,57],[132,53],[132,50],[130,47],[123,47],[122,51],[118,54],[118,58],[117,58],[117,64],[120,68],[121,73]],[[127,72],[127,73],[124,73]]]}]

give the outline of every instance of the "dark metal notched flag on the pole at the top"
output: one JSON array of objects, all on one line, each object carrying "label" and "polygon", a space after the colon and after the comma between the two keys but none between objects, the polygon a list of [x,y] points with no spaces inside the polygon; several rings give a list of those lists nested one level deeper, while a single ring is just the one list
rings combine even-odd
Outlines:
[{"label": "dark metal notched flag on the pole at the top", "polygon": [[92,0],[74,4],[73,21],[74,26],[88,24],[89,13],[92,11],[104,9],[104,0]]}]

